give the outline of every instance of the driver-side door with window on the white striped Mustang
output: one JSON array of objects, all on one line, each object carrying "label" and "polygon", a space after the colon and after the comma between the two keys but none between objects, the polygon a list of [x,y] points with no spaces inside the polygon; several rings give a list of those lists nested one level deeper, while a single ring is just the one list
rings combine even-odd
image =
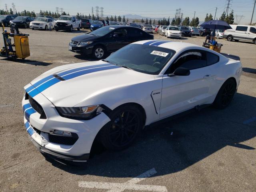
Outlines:
[{"label": "driver-side door with window on the white striped Mustang", "polygon": [[[188,76],[172,76],[178,67],[188,68]],[[206,54],[190,50],[180,54],[166,70],[162,81],[160,118],[165,118],[207,102],[210,89],[210,67]]]}]

